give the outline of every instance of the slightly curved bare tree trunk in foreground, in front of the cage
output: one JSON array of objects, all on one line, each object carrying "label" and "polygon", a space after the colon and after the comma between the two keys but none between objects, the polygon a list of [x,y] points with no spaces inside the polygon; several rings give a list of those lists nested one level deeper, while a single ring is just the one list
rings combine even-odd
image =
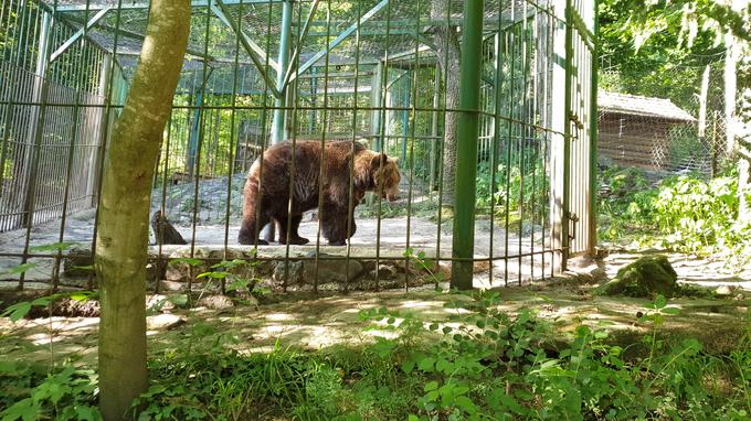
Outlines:
[{"label": "slightly curved bare tree trunk in foreground, in front of the cage", "polygon": [[152,0],[146,40],[115,125],[99,202],[99,408],[125,419],[147,390],[146,259],[151,184],[190,30],[190,0]]}]

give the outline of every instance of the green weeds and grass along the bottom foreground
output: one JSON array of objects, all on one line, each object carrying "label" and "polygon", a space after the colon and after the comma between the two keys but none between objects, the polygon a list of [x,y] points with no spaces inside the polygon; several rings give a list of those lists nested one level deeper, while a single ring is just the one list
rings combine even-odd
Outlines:
[{"label": "green weeds and grass along the bottom foreground", "polygon": [[[745,420],[751,320],[736,350],[669,342],[678,312],[663,296],[639,319],[648,353],[625,357],[607,326],[565,341],[533,311],[498,310],[497,293],[451,294],[449,317],[360,312],[373,341],[319,352],[241,353],[242,339],[200,322],[189,345],[152,355],[140,420]],[[71,364],[0,364],[0,420],[99,419],[96,376]]]}]

